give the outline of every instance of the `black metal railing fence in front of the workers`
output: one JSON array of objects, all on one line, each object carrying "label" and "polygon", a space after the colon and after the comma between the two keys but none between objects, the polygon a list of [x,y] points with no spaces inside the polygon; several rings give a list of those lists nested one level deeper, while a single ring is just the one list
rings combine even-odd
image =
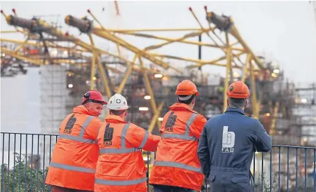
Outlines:
[{"label": "black metal railing fence in front of the workers", "polygon": [[[57,139],[56,134],[1,132],[1,192],[49,191],[44,181]],[[144,155],[148,167],[154,157]],[[256,152],[253,189],[316,192],[315,162],[316,148],[311,147],[273,146],[272,152]],[[209,191],[206,186],[203,191]]]}]

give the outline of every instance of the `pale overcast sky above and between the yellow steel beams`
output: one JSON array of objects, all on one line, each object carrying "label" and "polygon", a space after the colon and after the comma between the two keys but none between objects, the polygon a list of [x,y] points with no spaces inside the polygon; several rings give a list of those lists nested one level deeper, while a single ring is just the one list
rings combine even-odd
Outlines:
[{"label": "pale overcast sky above and between the yellow steel beams", "polygon": [[[232,16],[243,39],[251,49],[257,53],[265,53],[278,60],[281,68],[285,69],[285,76],[295,82],[316,81],[316,21],[312,3],[308,1],[119,1],[121,17],[115,17],[113,1],[29,1],[3,2],[1,9],[12,14],[15,8],[20,17],[31,18],[34,15],[44,16],[47,21],[58,21],[62,30],[69,30],[78,36],[76,28],[65,24],[66,15],[83,17],[90,8],[101,23],[110,28],[189,28],[199,27],[197,21],[190,14],[188,8],[192,6],[197,17],[204,26],[207,26],[203,6],[208,6],[217,14],[224,13]],[[102,11],[104,8],[104,12]],[[47,16],[53,17],[47,17]],[[60,15],[59,17],[54,15]],[[4,17],[1,17],[1,30],[12,30]],[[181,34],[166,34],[163,36],[179,37]],[[21,35],[2,35],[6,38],[19,38]],[[86,35],[81,35],[87,41]],[[132,44],[140,47],[148,46],[150,40],[135,40],[127,38]],[[88,42],[88,41],[87,41]],[[101,49],[109,48],[105,40],[96,39]],[[169,46],[163,52],[173,55],[186,55],[197,58],[197,48],[187,46]],[[214,59],[222,54],[214,55],[212,51],[203,50],[202,57]],[[222,73],[224,68],[204,67],[209,73]]]}]

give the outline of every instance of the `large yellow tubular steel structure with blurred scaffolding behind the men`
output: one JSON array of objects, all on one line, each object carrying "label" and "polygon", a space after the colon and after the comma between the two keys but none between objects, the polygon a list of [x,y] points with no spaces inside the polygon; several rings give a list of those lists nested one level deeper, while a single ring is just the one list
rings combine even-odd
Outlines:
[{"label": "large yellow tubular steel structure with blurred scaffolding behind the men", "polygon": [[[48,24],[42,19],[6,16],[2,12],[8,24],[22,28],[17,30],[18,33],[24,33],[28,38],[24,41],[1,39],[1,42],[17,45],[10,49],[1,46],[1,52],[12,58],[41,66],[46,77],[46,82],[42,81],[42,89],[47,89],[47,94],[50,93],[43,95],[43,99],[46,98],[45,102],[51,99],[48,104],[42,106],[43,116],[49,116],[49,120],[45,121],[49,125],[45,126],[56,131],[60,121],[71,112],[74,105],[80,103],[87,89],[98,89],[105,100],[114,93],[123,94],[130,104],[126,120],[153,134],[160,134],[158,128],[163,121],[163,114],[168,111],[169,105],[176,102],[174,92],[181,80],[190,79],[196,83],[200,96],[197,97],[194,110],[208,119],[226,110],[225,93],[229,83],[242,80],[251,91],[250,105],[245,109],[246,114],[263,123],[267,132],[272,135],[274,143],[299,145],[302,126],[295,124],[299,117],[292,114],[295,106],[294,94],[297,90],[289,82],[285,82],[279,64],[267,60],[263,55],[255,55],[238,33],[231,17],[208,12],[207,8],[205,11],[208,27],[201,25],[190,8],[200,28],[110,29],[103,26],[90,10],[88,13],[93,21],[88,17],[65,17],[65,22],[69,26],[76,27],[81,33],[88,35],[89,43],[64,33],[56,25]],[[38,28],[35,28],[34,24]],[[162,32],[185,34],[178,38],[156,35]],[[42,37],[37,35],[39,33],[42,33]],[[153,39],[163,43],[140,48],[127,42],[124,39],[127,36],[141,38],[140,41]],[[112,43],[115,50],[97,48],[94,45],[96,37],[108,41],[108,44]],[[61,42],[66,43],[61,45]],[[161,47],[174,44],[193,46],[198,53],[197,57],[158,53]],[[40,49],[41,52],[30,55],[19,51],[24,46]],[[215,58],[209,60],[202,59],[202,47],[211,49],[212,53],[224,54],[212,55]],[[174,52],[176,51],[172,53]],[[123,53],[133,55],[133,59]],[[223,67],[226,76],[214,76],[203,72],[206,65]],[[50,98],[53,95],[54,98]],[[60,105],[53,105],[56,102]],[[60,109],[60,119],[53,112],[53,107]],[[49,109],[51,112],[47,112]],[[102,119],[106,113],[104,110]],[[285,141],[284,135],[289,139]]]}]

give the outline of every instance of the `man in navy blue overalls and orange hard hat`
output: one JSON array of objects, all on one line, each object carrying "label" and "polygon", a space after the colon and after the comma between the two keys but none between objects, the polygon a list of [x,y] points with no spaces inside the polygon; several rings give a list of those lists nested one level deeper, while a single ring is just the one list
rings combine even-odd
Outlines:
[{"label": "man in navy blue overalls and orange hard hat", "polygon": [[210,191],[249,192],[253,152],[272,150],[271,137],[258,120],[244,115],[250,96],[244,82],[233,82],[226,94],[228,109],[208,120],[197,153]]}]

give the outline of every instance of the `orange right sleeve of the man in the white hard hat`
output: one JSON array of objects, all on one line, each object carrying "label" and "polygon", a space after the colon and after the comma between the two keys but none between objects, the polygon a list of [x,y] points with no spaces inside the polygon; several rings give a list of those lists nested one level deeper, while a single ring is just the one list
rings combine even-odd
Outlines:
[{"label": "orange right sleeve of the man in the white hard hat", "polygon": [[126,134],[126,140],[135,148],[147,151],[156,151],[160,139],[160,136],[153,135],[136,125],[131,125]]}]

